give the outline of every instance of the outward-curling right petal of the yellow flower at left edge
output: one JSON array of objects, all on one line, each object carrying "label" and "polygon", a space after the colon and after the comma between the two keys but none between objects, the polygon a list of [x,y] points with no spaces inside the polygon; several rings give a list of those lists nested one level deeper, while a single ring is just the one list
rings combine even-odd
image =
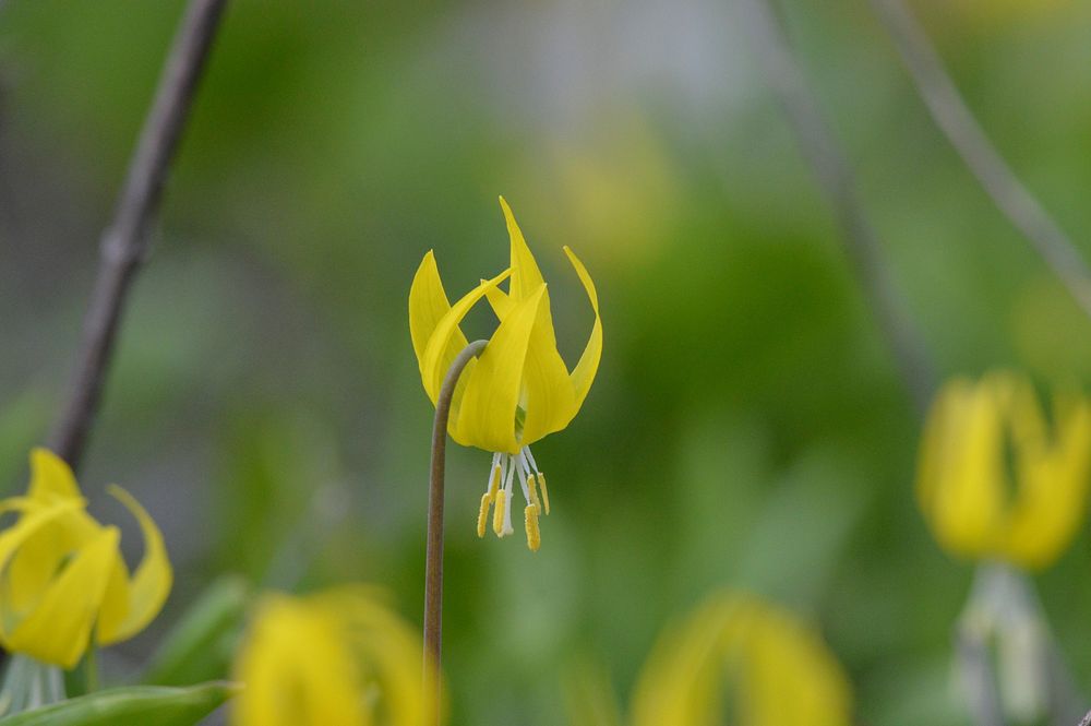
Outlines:
[{"label": "outward-curling right petal of the yellow flower at left edge", "polygon": [[170,594],[173,571],[167,558],[167,547],[163,533],[147,511],[121,487],[111,486],[110,496],[124,504],[144,533],[144,557],[129,583],[129,607],[123,621],[115,624],[100,623],[98,642],[109,645],[132,638],[155,619]]}]

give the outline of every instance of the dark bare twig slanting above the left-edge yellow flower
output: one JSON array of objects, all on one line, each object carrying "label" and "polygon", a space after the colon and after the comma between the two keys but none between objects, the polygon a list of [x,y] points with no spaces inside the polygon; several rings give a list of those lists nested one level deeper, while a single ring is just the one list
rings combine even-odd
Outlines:
[{"label": "dark bare twig slanting above the left-edge yellow flower", "polygon": [[144,121],[113,222],[103,236],[71,393],[50,437],[53,451],[73,467],[80,462],[98,408],[125,297],[147,255],[148,227],[158,210],[170,162],[226,3],[190,2]]}]

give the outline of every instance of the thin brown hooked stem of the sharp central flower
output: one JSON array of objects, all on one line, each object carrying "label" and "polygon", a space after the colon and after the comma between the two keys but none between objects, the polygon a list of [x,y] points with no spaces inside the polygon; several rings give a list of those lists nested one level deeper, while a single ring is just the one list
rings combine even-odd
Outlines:
[{"label": "thin brown hooked stem of the sharp central flower", "polygon": [[488,341],[473,341],[455,356],[435,400],[432,425],[432,471],[428,483],[428,550],[424,556],[424,692],[440,723],[440,652],[443,630],[443,473],[447,451],[451,400],[466,365],[484,350]]}]

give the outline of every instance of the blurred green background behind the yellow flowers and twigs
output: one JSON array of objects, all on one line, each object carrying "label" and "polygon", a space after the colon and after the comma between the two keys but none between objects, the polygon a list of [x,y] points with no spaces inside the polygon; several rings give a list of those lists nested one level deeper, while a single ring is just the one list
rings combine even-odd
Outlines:
[{"label": "blurred green background behind the yellow flowers and twigs", "polygon": [[[1091,323],[935,129],[868,3],[786,4],[940,372],[1086,384]],[[918,10],[1012,166],[1091,239],[1091,5]],[[0,5],[8,491],[64,391],[180,11]],[[107,674],[227,572],[377,583],[419,618],[432,408],[406,296],[432,248],[453,289],[506,264],[504,193],[570,365],[591,316],[562,245],[595,276],[606,346],[580,415],[536,447],[537,555],[473,536],[488,454],[451,448],[452,723],[566,723],[588,667],[627,700],[657,633],[721,586],[819,626],[862,723],[967,723],[949,640],[971,570],[918,513],[914,414],[748,40],[712,0],[232,3],[81,476],[96,505],[115,479],[144,502],[177,567]],[[1084,686],[1089,568],[1081,534],[1038,576]]]}]

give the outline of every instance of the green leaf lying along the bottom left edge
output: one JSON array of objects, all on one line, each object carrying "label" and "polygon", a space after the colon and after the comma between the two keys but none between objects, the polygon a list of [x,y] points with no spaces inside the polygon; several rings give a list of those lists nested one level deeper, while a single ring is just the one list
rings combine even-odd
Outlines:
[{"label": "green leaf lying along the bottom left edge", "polygon": [[192,726],[238,690],[226,681],[112,688],[0,718],[0,726]]}]

